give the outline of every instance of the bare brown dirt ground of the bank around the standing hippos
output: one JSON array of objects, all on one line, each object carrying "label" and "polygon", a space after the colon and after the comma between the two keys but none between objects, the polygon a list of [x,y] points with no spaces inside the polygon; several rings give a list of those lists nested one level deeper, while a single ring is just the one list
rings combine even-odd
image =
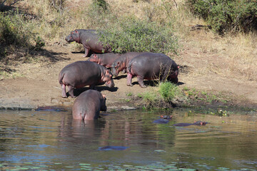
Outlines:
[{"label": "bare brown dirt ground of the bank around the standing hippos", "polygon": [[[234,78],[222,71],[224,61],[215,53],[198,53],[185,44],[184,50],[174,60],[181,66],[178,86],[222,94],[231,99],[231,104],[243,107],[257,106],[257,83],[246,78]],[[19,77],[0,80],[0,108],[38,108],[39,106],[64,106],[71,108],[74,98],[61,98],[61,86],[58,82],[59,72],[64,66],[75,61],[83,61],[83,52],[74,52],[71,44],[60,46],[47,45],[38,55],[38,61],[12,66]],[[126,86],[126,74],[114,80],[114,88],[98,86],[96,89],[106,95],[106,105],[115,108],[133,107],[128,93],[138,95],[154,88],[140,88],[133,78],[133,87]],[[88,88],[84,88],[86,90]]]}]

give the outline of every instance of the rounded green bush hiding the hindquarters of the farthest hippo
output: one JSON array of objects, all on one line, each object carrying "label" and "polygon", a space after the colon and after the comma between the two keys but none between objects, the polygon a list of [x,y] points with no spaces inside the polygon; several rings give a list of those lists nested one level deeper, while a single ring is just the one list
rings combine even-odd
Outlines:
[{"label": "rounded green bush hiding the hindquarters of the farthest hippo", "polygon": [[140,21],[133,17],[117,20],[99,31],[100,41],[109,43],[116,53],[149,51],[154,53],[177,53],[178,41],[171,26]]}]

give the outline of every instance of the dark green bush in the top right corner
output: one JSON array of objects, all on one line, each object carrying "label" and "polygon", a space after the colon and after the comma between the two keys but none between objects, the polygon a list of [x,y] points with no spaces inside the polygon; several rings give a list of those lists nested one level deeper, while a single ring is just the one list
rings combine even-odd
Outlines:
[{"label": "dark green bush in the top right corner", "polygon": [[187,0],[187,5],[219,33],[257,29],[256,0]]}]

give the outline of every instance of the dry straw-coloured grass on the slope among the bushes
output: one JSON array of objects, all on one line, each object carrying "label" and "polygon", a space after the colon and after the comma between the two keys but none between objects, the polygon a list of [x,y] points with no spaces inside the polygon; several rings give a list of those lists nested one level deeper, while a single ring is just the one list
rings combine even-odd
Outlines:
[{"label": "dry straw-coloured grass on the slope among the bushes", "polygon": [[[192,58],[201,61],[201,66],[198,66],[201,68],[199,74],[214,72],[223,76],[244,77],[256,81],[256,33],[219,36],[205,29],[191,31],[191,26],[206,24],[186,10],[185,1],[139,0],[135,3],[132,0],[106,0],[114,16],[136,16],[138,19],[148,19],[167,26],[172,23],[171,26],[176,30],[176,35],[179,36],[183,46],[181,52],[186,51]],[[34,32],[39,32],[46,42],[66,43],[64,37],[75,28],[101,28],[96,22],[99,16],[92,18],[94,9],[90,8],[90,0],[68,0],[65,10],[61,13],[53,11],[48,2],[48,0],[26,0],[20,3],[21,7],[26,6],[32,14],[39,16],[41,20],[36,21]],[[109,23],[111,21],[106,16],[102,24]]]}]

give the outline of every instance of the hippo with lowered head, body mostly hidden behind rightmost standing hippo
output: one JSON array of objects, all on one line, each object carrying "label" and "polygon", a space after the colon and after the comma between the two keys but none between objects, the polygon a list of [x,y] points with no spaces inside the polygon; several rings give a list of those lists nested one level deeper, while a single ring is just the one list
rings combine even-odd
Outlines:
[{"label": "hippo with lowered head, body mostly hidden behind rightmost standing hippo", "polygon": [[126,73],[126,68],[129,66],[129,61],[142,53],[144,52],[128,52],[119,56],[119,58],[117,58],[111,65],[111,73],[113,73],[114,76],[118,76],[119,72],[121,71]]}]

